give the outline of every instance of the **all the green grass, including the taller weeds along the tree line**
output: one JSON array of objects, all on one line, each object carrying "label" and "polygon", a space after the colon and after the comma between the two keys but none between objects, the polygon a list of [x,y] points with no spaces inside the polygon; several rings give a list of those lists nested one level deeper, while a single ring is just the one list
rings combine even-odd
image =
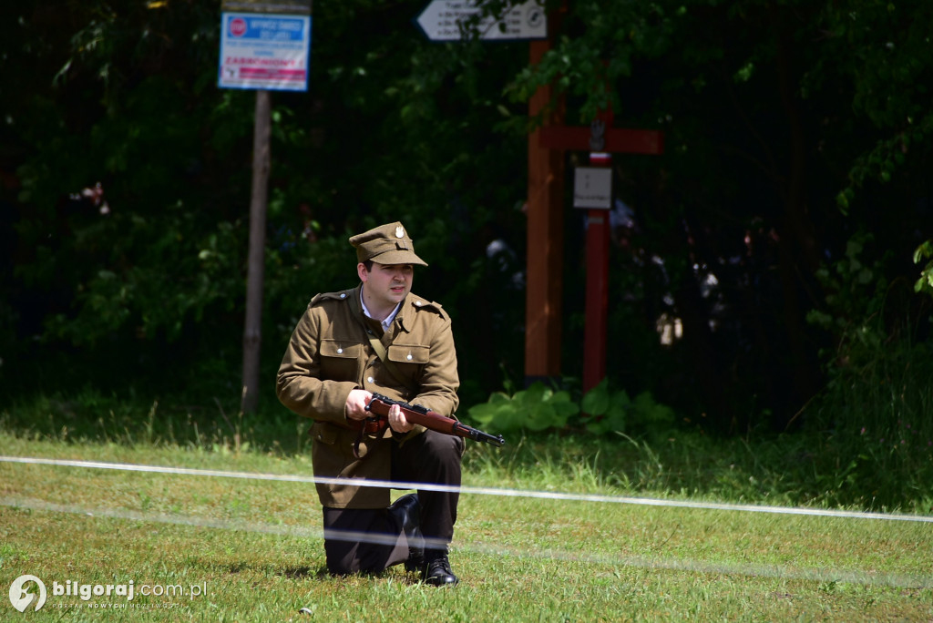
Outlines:
[{"label": "all the green grass, including the taller weeds along the tree line", "polygon": [[[39,396],[0,408],[0,454],[312,476],[307,422],[233,413]],[[916,473],[878,473],[870,452],[831,436],[512,435],[501,449],[470,445],[464,484],[928,516],[919,456]],[[462,583],[436,589],[399,568],[325,574],[310,483],[0,463],[0,502],[0,589],[23,574],[49,589],[38,613],[4,598],[3,620],[933,619],[928,522],[465,493],[452,552]],[[126,602],[51,594],[68,579],[205,594],[102,610],[89,604]]]}]

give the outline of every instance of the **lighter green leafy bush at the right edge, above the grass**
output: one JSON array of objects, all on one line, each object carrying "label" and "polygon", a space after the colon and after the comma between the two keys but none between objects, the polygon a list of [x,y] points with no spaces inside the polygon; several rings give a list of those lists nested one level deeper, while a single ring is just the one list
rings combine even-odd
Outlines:
[{"label": "lighter green leafy bush at the right edge, above the grass", "polygon": [[[808,316],[829,332],[832,346],[821,351],[827,386],[803,414],[844,449],[837,450],[847,475],[839,487],[857,487],[879,469],[888,475],[924,471],[933,448],[933,358],[929,344],[914,337],[915,288],[904,278],[889,283],[882,262],[862,263],[872,240],[854,236],[846,256],[818,272],[828,307]],[[874,493],[888,486],[893,483]]]}]

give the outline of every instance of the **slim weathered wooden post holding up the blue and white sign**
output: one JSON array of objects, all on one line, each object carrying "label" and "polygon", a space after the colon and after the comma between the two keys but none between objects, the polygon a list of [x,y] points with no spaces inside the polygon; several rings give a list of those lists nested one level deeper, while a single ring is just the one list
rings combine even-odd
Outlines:
[{"label": "slim weathered wooden post holding up the blue and white sign", "polygon": [[246,273],[246,320],[243,332],[244,413],[259,400],[259,353],[262,344],[262,286],[265,270],[266,202],[269,183],[271,103],[268,90],[256,91],[253,132],[253,191],[249,203],[249,259]]}]

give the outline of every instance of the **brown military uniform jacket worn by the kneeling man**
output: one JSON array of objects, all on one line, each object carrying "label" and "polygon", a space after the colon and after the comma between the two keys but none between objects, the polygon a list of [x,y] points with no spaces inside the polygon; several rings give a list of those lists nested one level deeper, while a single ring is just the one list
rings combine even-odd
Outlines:
[{"label": "brown military uniform jacket worn by the kneeling man", "polygon": [[[383,332],[379,321],[363,313],[361,287],[311,300],[276,378],[282,404],[314,421],[309,433],[314,475],[319,478],[388,480],[391,445],[425,430],[416,426],[407,436],[393,435],[388,428],[383,436],[364,434],[356,458],[359,431],[348,428],[344,414],[351,390],[365,389],[450,417],[458,405],[460,381],[447,313],[439,304],[410,293]],[[401,379],[383,365],[370,336],[380,339]],[[334,508],[382,508],[390,503],[384,488],[318,483],[317,493],[322,505]]]}]

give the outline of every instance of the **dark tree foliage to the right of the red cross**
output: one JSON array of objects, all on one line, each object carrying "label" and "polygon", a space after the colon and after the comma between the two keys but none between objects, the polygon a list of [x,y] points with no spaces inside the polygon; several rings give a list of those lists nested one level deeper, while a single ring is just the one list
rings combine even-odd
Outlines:
[{"label": "dark tree foliage to the right of the red cross", "polygon": [[582,122],[611,100],[617,118],[666,132],[660,171],[620,163],[636,247],[665,273],[639,278],[657,289],[646,320],[682,319],[689,367],[675,384],[723,423],[763,407],[783,425],[818,391],[822,343],[805,317],[831,293],[815,274],[857,228],[881,225],[876,181],[903,196],[884,201],[882,247],[903,254],[890,270],[928,235],[915,206],[928,196],[916,175],[931,23],[923,2],[577,2],[512,83],[518,100],[559,85]]}]

